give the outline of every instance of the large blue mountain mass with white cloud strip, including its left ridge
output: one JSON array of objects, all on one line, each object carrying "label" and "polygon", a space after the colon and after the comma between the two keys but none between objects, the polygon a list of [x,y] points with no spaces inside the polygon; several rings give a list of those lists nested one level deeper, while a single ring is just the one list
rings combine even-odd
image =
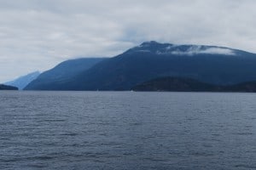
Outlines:
[{"label": "large blue mountain mass with white cloud strip, including its left ridge", "polygon": [[61,70],[57,65],[25,89],[131,90],[158,77],[183,77],[219,86],[256,80],[256,54],[204,45],[143,42],[113,58],[84,59],[80,66],[67,65]]}]

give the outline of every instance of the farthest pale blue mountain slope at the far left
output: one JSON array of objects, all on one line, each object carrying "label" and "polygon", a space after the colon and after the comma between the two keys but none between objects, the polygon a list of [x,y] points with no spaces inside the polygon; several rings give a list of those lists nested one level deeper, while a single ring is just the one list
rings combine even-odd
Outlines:
[{"label": "farthest pale blue mountain slope at the far left", "polygon": [[9,86],[15,86],[22,90],[23,88],[26,87],[27,84],[35,80],[38,76],[40,75],[39,71],[35,71],[32,73],[27,74],[26,76],[19,77],[15,79],[14,81],[11,82],[5,82],[4,84],[9,85]]}]

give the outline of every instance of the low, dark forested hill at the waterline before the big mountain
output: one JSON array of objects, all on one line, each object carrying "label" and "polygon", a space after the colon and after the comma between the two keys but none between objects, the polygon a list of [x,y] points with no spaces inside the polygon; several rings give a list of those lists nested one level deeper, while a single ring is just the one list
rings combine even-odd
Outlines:
[{"label": "low, dark forested hill at the waterline before the big mountain", "polygon": [[214,85],[183,77],[160,77],[143,82],[133,88],[134,91],[160,92],[256,92],[256,81],[235,85]]}]

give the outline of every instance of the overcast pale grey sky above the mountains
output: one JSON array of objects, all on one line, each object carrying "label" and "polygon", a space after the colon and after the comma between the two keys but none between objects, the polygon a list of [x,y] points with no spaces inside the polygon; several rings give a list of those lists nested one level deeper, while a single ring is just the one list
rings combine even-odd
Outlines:
[{"label": "overcast pale grey sky above the mountains", "polygon": [[0,82],[145,41],[256,53],[255,0],[0,0]]}]

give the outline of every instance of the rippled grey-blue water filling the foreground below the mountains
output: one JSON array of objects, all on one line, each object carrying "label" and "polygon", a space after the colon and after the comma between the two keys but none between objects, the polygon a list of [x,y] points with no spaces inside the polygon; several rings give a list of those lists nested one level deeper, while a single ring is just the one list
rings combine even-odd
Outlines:
[{"label": "rippled grey-blue water filling the foreground below the mountains", "polygon": [[0,169],[256,169],[256,94],[0,92]]}]

